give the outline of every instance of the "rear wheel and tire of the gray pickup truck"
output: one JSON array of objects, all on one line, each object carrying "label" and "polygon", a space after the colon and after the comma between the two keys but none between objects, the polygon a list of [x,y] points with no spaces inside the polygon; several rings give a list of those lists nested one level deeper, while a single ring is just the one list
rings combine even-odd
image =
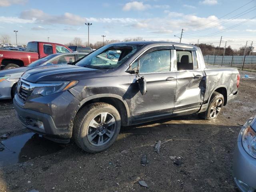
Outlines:
[{"label": "rear wheel and tire of the gray pickup truck", "polygon": [[224,104],[224,96],[218,92],[213,92],[208,108],[205,112],[199,113],[202,119],[214,119],[220,114]]}]

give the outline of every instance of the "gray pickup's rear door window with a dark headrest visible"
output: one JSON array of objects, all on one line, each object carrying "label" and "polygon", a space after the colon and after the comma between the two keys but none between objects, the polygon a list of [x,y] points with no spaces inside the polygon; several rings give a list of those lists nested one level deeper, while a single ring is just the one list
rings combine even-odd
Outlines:
[{"label": "gray pickup's rear door window with a dark headrest visible", "polygon": [[[193,70],[192,51],[176,50],[177,56],[177,70]],[[197,66],[197,63],[196,63]]]}]

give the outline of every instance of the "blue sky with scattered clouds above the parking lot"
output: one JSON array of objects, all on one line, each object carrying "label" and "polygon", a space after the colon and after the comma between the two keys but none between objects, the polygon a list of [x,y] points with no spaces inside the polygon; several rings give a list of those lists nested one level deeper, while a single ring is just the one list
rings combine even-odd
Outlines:
[{"label": "blue sky with scattered clouds above the parking lot", "polygon": [[[145,40],[206,42],[239,47],[256,43],[256,0],[0,0],[0,35],[18,42],[67,43],[143,37]],[[249,42],[250,41],[250,42]],[[224,46],[224,45],[223,45]]]}]

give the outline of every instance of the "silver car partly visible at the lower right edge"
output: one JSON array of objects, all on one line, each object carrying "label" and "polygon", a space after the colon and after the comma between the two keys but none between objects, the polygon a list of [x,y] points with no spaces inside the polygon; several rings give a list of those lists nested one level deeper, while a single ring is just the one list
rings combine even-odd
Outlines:
[{"label": "silver car partly visible at the lower right edge", "polygon": [[256,192],[256,116],[239,133],[234,152],[234,180],[240,191]]}]

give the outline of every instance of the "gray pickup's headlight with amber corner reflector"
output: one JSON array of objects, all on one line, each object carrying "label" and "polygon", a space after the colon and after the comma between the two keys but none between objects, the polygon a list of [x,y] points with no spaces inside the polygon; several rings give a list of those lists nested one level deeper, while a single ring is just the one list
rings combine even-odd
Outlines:
[{"label": "gray pickup's headlight with amber corner reflector", "polygon": [[60,82],[60,83],[38,83],[34,84],[34,90],[31,94],[32,95],[42,95],[47,96],[54,93],[62,92],[68,90],[75,86],[78,81],[67,81],[67,82]]}]

